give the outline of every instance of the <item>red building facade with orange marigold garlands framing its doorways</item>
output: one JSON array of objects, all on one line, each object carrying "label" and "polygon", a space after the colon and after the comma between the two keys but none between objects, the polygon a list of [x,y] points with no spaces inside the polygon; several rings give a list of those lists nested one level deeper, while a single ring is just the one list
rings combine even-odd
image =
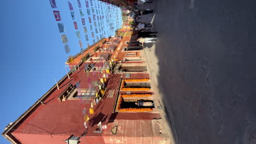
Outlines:
[{"label": "red building facade with orange marigold garlands framing its doorways", "polygon": [[[147,61],[143,50],[132,50],[134,45],[127,44],[132,40],[131,36],[120,38],[117,48],[107,52],[108,58],[95,53],[104,49],[104,43],[109,46],[109,39],[96,45],[97,50],[92,46],[73,57],[67,63],[77,66],[2,135],[11,143],[26,144],[168,143],[156,120],[161,115],[154,106]],[[85,57],[89,51],[93,52]],[[141,105],[148,103],[152,105]]]}]

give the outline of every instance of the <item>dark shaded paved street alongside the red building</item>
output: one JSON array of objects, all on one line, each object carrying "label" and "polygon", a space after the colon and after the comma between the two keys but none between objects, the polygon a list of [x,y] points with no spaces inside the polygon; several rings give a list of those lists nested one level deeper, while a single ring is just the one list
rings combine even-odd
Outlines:
[{"label": "dark shaded paved street alongside the red building", "polygon": [[[255,4],[155,0],[141,6],[156,10],[159,70],[153,73],[176,143],[256,143]],[[153,14],[141,21],[148,17]]]}]

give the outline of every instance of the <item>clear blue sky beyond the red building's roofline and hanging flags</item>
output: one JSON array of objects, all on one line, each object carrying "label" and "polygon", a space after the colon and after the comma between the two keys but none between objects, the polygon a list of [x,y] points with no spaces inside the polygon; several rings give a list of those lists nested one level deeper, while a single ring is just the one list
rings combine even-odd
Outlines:
[{"label": "clear blue sky beyond the red building's roofline and hanging flags", "polygon": [[[71,2],[74,3],[76,0],[71,0]],[[65,53],[49,0],[4,1],[1,3],[0,42],[3,62],[0,72],[1,133],[8,123],[14,122],[54,85],[54,79],[60,80],[66,74],[67,56],[75,55],[80,51],[67,1],[56,1],[56,3],[61,10],[62,22],[68,36],[68,44],[71,49],[68,54]],[[89,19],[86,17],[85,2],[81,0],[81,4],[87,27]],[[78,6],[73,5],[73,7],[79,15]],[[111,21],[116,25],[116,17],[112,17],[115,19],[113,18]],[[85,49],[88,42],[85,40],[80,18],[78,16],[76,20],[79,28],[77,31],[81,33]],[[103,21],[103,23],[107,28],[107,22]],[[115,29],[119,27],[115,26]],[[88,35],[91,35],[90,27],[87,29]],[[93,31],[95,32],[95,28]],[[89,36],[89,43],[92,44],[91,36]],[[0,143],[9,142],[0,136]]]}]

